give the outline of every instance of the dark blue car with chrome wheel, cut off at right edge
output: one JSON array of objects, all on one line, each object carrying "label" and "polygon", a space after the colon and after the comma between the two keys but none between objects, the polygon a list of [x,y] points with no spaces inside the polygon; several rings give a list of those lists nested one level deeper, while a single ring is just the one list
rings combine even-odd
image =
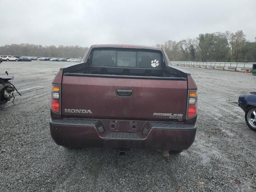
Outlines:
[{"label": "dark blue car with chrome wheel, cut off at right edge", "polygon": [[238,98],[238,105],[245,112],[245,121],[248,127],[256,131],[256,92],[250,95],[241,95]]}]

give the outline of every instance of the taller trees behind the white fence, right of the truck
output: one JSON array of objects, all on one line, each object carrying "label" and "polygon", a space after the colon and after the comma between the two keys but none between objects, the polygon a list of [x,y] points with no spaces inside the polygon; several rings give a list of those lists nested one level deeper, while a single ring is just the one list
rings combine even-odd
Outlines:
[{"label": "taller trees behind the white fence, right of the truck", "polygon": [[171,61],[256,62],[256,38],[249,42],[242,30],[199,34],[156,46],[163,48]]}]

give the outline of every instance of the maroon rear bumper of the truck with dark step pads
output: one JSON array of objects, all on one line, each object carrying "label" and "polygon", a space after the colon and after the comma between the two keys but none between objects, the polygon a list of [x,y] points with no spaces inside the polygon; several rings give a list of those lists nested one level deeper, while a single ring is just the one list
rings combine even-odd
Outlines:
[{"label": "maroon rear bumper of the truck with dark step pads", "polygon": [[196,136],[193,124],[139,121],[139,132],[115,132],[104,126],[104,121],[51,119],[50,132],[56,144],[61,146],[158,150],[186,150]]}]

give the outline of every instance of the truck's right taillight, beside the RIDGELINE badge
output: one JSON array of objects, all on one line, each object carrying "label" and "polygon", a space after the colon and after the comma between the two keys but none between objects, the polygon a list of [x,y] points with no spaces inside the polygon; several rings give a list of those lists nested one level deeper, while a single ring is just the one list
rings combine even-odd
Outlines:
[{"label": "truck's right taillight, beside the RIDGELINE badge", "polygon": [[197,90],[188,90],[187,119],[193,118],[197,113]]}]

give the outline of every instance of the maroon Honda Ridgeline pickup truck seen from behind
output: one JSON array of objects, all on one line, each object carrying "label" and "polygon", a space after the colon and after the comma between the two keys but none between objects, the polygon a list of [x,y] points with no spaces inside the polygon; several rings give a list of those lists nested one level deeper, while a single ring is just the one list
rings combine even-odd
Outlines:
[{"label": "maroon Honda Ridgeline pickup truck seen from behind", "polygon": [[93,45],[54,78],[51,136],[65,147],[180,152],[196,135],[196,90],[162,48]]}]

